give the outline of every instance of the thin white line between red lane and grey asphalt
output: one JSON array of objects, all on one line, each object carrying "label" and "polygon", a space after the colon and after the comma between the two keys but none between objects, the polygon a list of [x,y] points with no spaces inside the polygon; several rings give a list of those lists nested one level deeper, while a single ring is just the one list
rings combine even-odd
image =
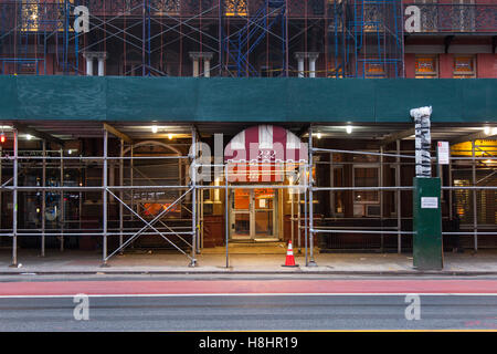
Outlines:
[{"label": "thin white line between red lane and grey asphalt", "polygon": [[[0,295],[1,299],[63,299],[74,298],[74,294],[63,295]],[[182,293],[182,294],[86,294],[88,298],[203,298],[203,296],[405,296],[416,294],[420,296],[497,296],[497,293]]]}]

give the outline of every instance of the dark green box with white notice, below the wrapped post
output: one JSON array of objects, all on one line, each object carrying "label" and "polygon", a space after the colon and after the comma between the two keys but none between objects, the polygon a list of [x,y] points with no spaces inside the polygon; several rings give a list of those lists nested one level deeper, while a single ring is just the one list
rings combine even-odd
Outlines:
[{"label": "dark green box with white notice, below the wrapped post", "polygon": [[417,270],[443,269],[440,178],[414,178],[413,266]]}]

